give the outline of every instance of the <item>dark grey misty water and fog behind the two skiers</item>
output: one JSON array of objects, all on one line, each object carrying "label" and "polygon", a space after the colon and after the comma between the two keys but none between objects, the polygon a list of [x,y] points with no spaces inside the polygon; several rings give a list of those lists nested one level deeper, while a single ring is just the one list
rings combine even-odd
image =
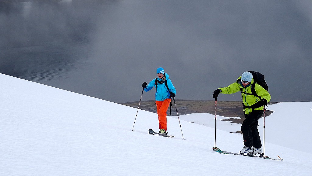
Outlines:
[{"label": "dark grey misty water and fog behind the two skiers", "polygon": [[[271,101],[312,101],[312,2],[0,1],[0,73],[122,103],[163,67],[176,99],[213,100],[244,71]],[[153,100],[154,91],[143,100]],[[240,94],[219,100],[239,101]]]}]

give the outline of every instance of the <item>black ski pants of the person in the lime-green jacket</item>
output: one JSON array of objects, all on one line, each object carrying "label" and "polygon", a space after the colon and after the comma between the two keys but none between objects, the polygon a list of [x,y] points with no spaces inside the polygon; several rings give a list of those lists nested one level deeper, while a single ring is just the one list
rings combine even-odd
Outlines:
[{"label": "black ski pants of the person in the lime-green jacket", "polygon": [[258,131],[258,120],[263,114],[261,111],[252,111],[250,114],[245,114],[245,120],[241,125],[243,133],[244,145],[247,147],[261,148],[261,139]]}]

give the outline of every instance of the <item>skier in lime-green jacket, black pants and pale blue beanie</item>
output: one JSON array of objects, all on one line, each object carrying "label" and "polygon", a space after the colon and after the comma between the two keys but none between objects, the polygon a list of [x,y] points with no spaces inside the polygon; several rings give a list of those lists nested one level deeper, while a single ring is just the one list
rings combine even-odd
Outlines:
[{"label": "skier in lime-green jacket, black pants and pale blue beanie", "polygon": [[[255,84],[255,91],[261,98],[252,95],[251,85]],[[233,94],[241,91],[243,101],[245,120],[241,125],[243,133],[244,148],[241,150],[243,154],[256,155],[262,153],[262,144],[258,131],[258,120],[263,114],[264,106],[267,106],[271,100],[271,95],[261,85],[254,83],[252,74],[248,71],[244,72],[235,83],[218,88],[213,92],[212,97],[217,99],[219,93]]]}]

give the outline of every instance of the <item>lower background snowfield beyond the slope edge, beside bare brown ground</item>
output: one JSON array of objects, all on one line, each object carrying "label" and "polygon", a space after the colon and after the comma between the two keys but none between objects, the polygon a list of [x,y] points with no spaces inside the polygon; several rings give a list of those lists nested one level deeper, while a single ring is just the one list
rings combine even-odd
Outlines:
[{"label": "lower background snowfield beyond the slope edge, beside bare brown ground", "polygon": [[[312,134],[312,102],[282,102],[269,105],[267,109],[274,112],[265,119],[262,116],[258,121],[262,142],[265,136],[266,142],[312,154],[312,150],[306,147],[312,146],[312,140],[309,137]],[[177,116],[172,117],[177,118]],[[215,127],[215,115],[209,113],[181,115],[180,119]],[[217,129],[227,132],[240,131],[241,124],[220,121],[222,119],[229,118],[217,115]]]}]

